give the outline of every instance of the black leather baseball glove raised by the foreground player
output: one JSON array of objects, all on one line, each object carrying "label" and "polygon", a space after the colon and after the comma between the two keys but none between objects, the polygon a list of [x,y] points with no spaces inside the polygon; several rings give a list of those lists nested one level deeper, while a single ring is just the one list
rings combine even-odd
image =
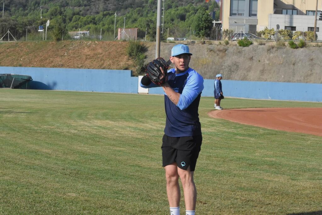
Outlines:
[{"label": "black leather baseball glove raised by the foreground player", "polygon": [[[162,74],[160,67],[163,69],[164,75]],[[146,73],[154,84],[161,86],[167,81],[169,67],[170,66],[163,58],[157,58],[147,64]]]}]

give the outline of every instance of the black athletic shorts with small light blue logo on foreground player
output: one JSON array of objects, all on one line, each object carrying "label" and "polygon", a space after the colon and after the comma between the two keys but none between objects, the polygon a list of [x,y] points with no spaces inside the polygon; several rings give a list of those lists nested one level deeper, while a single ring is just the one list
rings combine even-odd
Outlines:
[{"label": "black athletic shorts with small light blue logo on foreground player", "polygon": [[162,165],[177,163],[180,169],[194,171],[201,150],[202,135],[162,138]]}]

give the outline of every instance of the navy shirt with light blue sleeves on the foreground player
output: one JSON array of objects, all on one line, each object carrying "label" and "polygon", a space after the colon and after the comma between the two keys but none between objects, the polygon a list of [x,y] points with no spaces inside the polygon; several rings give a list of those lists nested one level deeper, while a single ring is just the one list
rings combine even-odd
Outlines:
[{"label": "navy shirt with light blue sleeves on the foreground player", "polygon": [[[167,83],[181,95],[178,104],[175,105],[165,94],[165,134],[171,137],[201,135],[198,107],[201,92],[204,89],[203,77],[191,68],[179,74],[175,73],[175,69],[171,69],[168,71]],[[143,88],[158,87],[153,83],[144,86],[141,82],[140,86]]]}]

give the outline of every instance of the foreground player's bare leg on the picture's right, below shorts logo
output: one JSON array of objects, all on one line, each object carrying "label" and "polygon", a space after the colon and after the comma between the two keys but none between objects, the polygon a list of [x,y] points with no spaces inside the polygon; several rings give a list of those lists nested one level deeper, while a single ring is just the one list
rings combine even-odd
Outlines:
[{"label": "foreground player's bare leg on the picture's right, below shorts logo", "polygon": [[194,184],[194,171],[190,171],[190,167],[188,167],[188,170],[178,168],[178,174],[180,176],[185,195],[185,210],[195,210],[197,190]]}]

